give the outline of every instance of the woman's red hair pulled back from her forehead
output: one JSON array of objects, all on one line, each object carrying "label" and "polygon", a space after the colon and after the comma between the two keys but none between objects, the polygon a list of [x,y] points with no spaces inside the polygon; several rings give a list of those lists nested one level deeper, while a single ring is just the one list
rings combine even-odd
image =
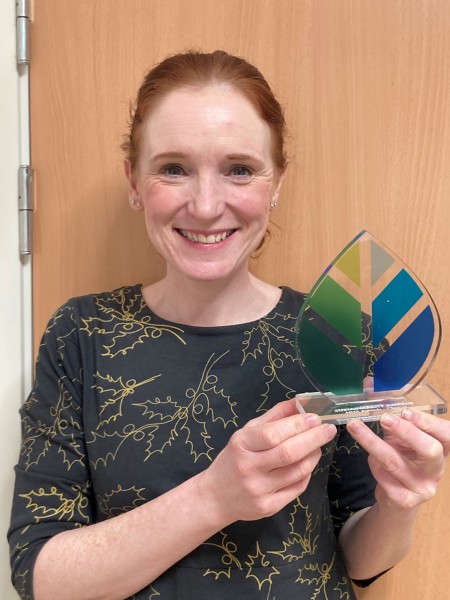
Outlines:
[{"label": "woman's red hair pulled back from her forehead", "polygon": [[270,127],[275,168],[278,172],[284,169],[286,122],[280,103],[256,67],[243,58],[216,50],[175,54],[147,73],[139,88],[135,108],[131,110],[129,132],[122,144],[133,170],[138,162],[142,124],[157,104],[174,90],[213,84],[232,86],[252,104]]}]

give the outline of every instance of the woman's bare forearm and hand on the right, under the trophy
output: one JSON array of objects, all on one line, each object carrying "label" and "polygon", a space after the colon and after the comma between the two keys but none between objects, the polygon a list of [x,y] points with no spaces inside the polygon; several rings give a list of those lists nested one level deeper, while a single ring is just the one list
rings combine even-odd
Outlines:
[{"label": "woman's bare forearm and hand on the right, under the trophy", "polygon": [[360,421],[349,423],[352,436],[369,452],[378,482],[376,503],[355,513],[339,541],[349,575],[369,579],[393,567],[408,553],[422,503],[432,498],[450,451],[450,423],[426,413],[383,415],[381,440]]}]

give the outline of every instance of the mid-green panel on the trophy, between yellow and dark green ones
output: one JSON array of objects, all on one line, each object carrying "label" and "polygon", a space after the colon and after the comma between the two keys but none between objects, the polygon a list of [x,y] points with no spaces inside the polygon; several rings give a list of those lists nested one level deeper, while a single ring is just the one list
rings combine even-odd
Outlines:
[{"label": "mid-green panel on the trophy, between yellow and dark green ones", "polygon": [[350,344],[361,348],[361,304],[329,275],[318,286],[309,305]]}]

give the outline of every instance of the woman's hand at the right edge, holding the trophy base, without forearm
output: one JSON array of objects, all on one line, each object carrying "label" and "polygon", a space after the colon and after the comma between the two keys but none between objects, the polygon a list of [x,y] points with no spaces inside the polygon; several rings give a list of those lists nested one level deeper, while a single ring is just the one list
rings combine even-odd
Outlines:
[{"label": "woman's hand at the right edge, holding the trophy base, without forearm", "polygon": [[378,482],[377,502],[394,509],[414,509],[430,500],[450,454],[450,422],[428,413],[406,410],[381,417],[384,439],[362,421],[347,428],[369,453]]}]

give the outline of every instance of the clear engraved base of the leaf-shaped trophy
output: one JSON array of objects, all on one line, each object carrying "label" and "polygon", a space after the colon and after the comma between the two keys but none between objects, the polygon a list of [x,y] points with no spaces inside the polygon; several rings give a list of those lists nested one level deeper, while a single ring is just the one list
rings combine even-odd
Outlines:
[{"label": "clear engraved base of the leaf-shaped trophy", "polygon": [[[406,394],[392,392],[363,392],[336,396],[326,392],[297,394],[297,409],[301,413],[318,414],[322,421],[342,425],[351,419],[378,421],[385,412],[401,414],[414,408],[433,415],[447,412],[446,401],[426,383],[421,383]],[[396,395],[397,394],[397,395]]]}]

